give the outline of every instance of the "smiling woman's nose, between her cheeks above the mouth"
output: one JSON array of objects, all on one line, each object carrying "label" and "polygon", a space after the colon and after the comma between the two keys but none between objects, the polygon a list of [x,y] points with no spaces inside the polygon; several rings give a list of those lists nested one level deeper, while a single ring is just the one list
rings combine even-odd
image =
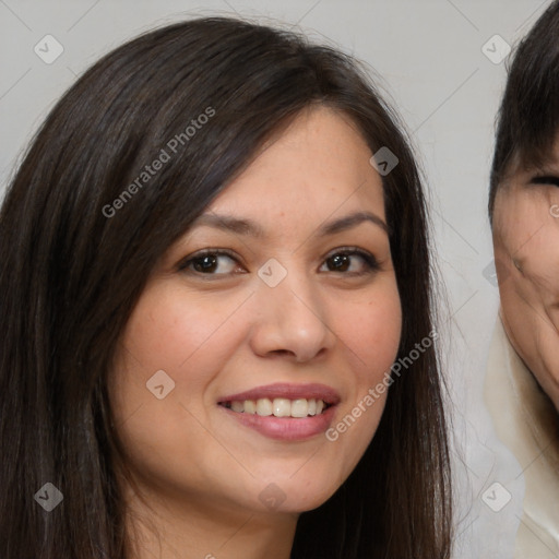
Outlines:
[{"label": "smiling woman's nose, between her cheeks above the mouth", "polygon": [[326,304],[311,281],[292,273],[275,287],[262,283],[254,305],[250,344],[257,355],[305,362],[334,346]]}]

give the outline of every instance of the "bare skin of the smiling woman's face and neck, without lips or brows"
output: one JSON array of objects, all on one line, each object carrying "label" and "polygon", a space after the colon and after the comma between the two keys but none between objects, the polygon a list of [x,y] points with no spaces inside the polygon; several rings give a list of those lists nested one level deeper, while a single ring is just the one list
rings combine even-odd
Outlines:
[{"label": "bare skin of the smiling woman's face and neck, without lips or brows", "polygon": [[[335,442],[323,432],[271,439],[217,401],[276,382],[318,382],[340,395],[335,425],[390,368],[402,314],[370,157],[346,116],[301,112],[206,210],[251,219],[262,236],[195,223],[153,271],[109,386],[131,473],[122,484],[134,557],[288,558],[298,515],[331,497],[361,457],[386,394]],[[364,211],[381,225],[318,233]],[[331,257],[347,247],[373,254],[378,267],[350,255],[337,271]],[[229,249],[235,260],[219,257],[203,274],[191,260],[202,249]],[[287,271],[275,287],[258,275],[271,258]],[[145,384],[162,369],[175,390],[157,400]],[[272,483],[283,499],[274,508],[259,499]]]}]

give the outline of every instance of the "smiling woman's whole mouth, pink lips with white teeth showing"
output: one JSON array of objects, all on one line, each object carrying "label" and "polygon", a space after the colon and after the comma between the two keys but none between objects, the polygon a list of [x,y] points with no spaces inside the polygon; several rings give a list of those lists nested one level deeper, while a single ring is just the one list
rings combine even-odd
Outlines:
[{"label": "smiling woman's whole mouth, pink lips with white teeth showing", "polygon": [[328,429],[337,392],[324,384],[269,384],[219,399],[228,415],[273,439],[300,440]]}]

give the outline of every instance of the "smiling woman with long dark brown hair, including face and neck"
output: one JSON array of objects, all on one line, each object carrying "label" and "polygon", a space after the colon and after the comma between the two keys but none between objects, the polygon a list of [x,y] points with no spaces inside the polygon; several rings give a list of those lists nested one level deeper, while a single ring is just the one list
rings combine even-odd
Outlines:
[{"label": "smiling woman with long dark brown hair, including face and neck", "polygon": [[348,57],[221,17],[132,40],[0,231],[2,556],[449,557],[420,180]]}]

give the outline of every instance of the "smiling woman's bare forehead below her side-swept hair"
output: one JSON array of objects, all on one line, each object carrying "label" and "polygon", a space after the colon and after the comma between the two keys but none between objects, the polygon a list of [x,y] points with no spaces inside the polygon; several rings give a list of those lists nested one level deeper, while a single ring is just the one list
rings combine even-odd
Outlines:
[{"label": "smiling woman's bare forehead below her side-swept hair", "polygon": [[382,180],[370,157],[348,116],[323,106],[306,109],[264,145],[210,211],[269,218],[289,212],[309,221],[365,205],[384,218]]}]

